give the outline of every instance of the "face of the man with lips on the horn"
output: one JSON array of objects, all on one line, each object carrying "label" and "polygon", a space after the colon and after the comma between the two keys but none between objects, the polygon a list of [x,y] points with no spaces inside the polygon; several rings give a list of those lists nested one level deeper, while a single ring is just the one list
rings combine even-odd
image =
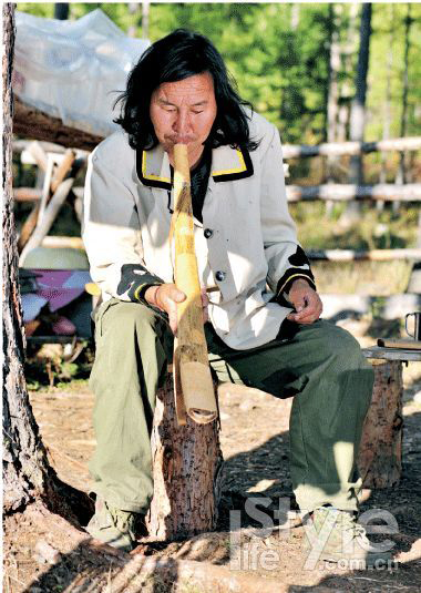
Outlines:
[{"label": "face of the man with lips on the horn", "polygon": [[188,162],[194,166],[216,117],[212,75],[204,72],[177,82],[164,82],[152,94],[150,114],[170,162],[174,164],[174,144],[187,144]]}]

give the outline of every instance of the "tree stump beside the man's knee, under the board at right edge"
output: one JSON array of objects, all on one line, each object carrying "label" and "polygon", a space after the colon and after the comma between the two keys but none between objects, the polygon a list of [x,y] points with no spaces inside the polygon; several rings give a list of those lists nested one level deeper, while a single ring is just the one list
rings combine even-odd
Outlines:
[{"label": "tree stump beside the man's knee, under the board at right edge", "polygon": [[388,488],[402,471],[402,362],[371,360],[374,387],[358,458],[364,488]]}]

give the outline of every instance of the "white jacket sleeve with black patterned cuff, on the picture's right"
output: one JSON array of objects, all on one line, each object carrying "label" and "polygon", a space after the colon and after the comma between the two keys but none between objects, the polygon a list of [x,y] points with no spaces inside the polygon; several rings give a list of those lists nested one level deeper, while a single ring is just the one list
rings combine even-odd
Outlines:
[{"label": "white jacket sleeve with black patterned cuff, on the picture's right", "polygon": [[275,126],[267,144],[261,162],[260,206],[265,255],[268,263],[267,283],[276,294],[276,299],[285,305],[286,295],[296,278],[305,278],[314,288],[316,285],[310,263],[297,241],[296,226],[288,211],[283,152],[279,133]]}]

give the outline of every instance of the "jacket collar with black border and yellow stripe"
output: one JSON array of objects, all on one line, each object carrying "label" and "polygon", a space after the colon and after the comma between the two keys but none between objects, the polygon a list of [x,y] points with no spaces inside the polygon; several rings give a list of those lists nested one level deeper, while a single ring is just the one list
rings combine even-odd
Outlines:
[{"label": "jacket collar with black border and yellow stripe", "polygon": [[[136,151],[136,171],[143,185],[171,190],[171,167],[161,144],[151,151]],[[219,146],[212,151],[210,176],[215,183],[236,181],[253,175],[253,163],[246,149]]]}]

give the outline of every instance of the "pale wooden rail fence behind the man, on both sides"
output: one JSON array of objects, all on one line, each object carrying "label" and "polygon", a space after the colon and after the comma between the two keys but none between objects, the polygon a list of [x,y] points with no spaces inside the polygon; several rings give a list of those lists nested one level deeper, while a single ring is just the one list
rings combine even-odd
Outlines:
[{"label": "pale wooden rail fence behind the man, on both sides", "polygon": [[[59,124],[58,124],[59,125]],[[18,130],[22,124],[18,125]],[[59,132],[58,132],[59,130]],[[69,132],[68,129],[65,130]],[[45,176],[42,187],[17,187],[14,190],[14,200],[17,202],[33,202],[34,206],[29,219],[23,225],[23,229],[19,241],[19,248],[22,251],[27,245],[24,252],[33,248],[37,245],[48,244],[57,238],[47,237],[47,234],[52,225],[52,222],[59,212],[61,204],[66,200],[66,196],[72,193],[74,205],[80,209],[81,197],[83,194],[82,187],[73,187],[74,175],[72,182],[63,184],[63,172],[70,174],[71,166],[74,161],[79,163],[79,167],[83,166],[86,161],[88,151],[83,149],[91,147],[90,143],[84,144],[84,141],[78,136],[78,144],[82,150],[69,151],[62,145],[52,143],[48,140],[48,132],[43,129],[42,133],[38,134],[41,142],[16,140],[13,142],[13,152],[21,154],[21,160],[24,163],[32,163],[38,165],[40,172]],[[54,139],[60,136],[60,127],[54,127]],[[101,139],[96,139],[101,140]],[[69,145],[69,139],[66,145]],[[91,140],[90,140],[91,142]],[[379,142],[343,142],[343,143],[326,143],[318,146],[291,145],[287,144],[283,147],[284,159],[297,157],[312,157],[312,156],[343,156],[366,154],[374,151],[419,151],[421,150],[421,137],[404,137],[394,140],[383,140]],[[70,156],[72,154],[72,156]],[[70,160],[69,160],[70,159]],[[53,174],[53,167],[57,167]],[[54,184],[59,178],[62,184],[60,195],[57,196],[58,184]],[[69,187],[68,187],[69,186]],[[55,193],[54,193],[55,191]],[[371,201],[371,202],[421,202],[421,183],[411,184],[377,184],[377,185],[351,185],[351,184],[336,184],[328,183],[317,186],[299,186],[287,185],[288,202],[301,201],[329,201],[329,202],[346,202],[346,201]],[[62,195],[63,194],[63,195]],[[64,195],[65,194],[65,195]],[[52,207],[54,205],[54,207]],[[43,213],[47,209],[48,219],[44,218]],[[40,216],[41,214],[41,216]],[[80,215],[80,213],[78,213]],[[420,236],[421,236],[421,211],[420,211]],[[63,237],[61,244],[74,244],[74,239]],[[393,258],[405,258],[413,260],[421,260],[420,249],[377,249],[372,252],[352,252],[346,251],[314,251],[309,254],[314,259],[329,259],[329,260],[349,260],[349,259],[373,259],[373,260],[389,260]]]}]

